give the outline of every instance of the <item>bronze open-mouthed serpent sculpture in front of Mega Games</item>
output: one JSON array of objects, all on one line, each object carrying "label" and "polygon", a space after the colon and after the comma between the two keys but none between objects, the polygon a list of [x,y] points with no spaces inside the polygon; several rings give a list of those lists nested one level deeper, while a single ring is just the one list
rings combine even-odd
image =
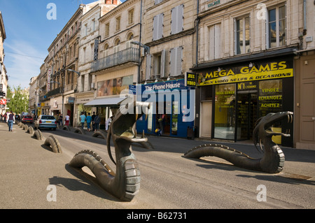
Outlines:
[{"label": "bronze open-mouthed serpent sculpture in front of Mega Games", "polygon": [[[276,133],[272,131],[272,124],[281,120],[288,119],[292,122],[293,113],[290,111],[269,113],[264,117],[260,117],[255,123],[253,130],[253,143],[258,151],[264,152],[263,157],[254,159],[247,154],[239,152],[225,145],[207,144],[199,145],[184,154],[184,157],[196,158],[206,156],[215,156],[230,161],[235,166],[247,168],[253,171],[262,171],[267,173],[279,173],[284,166],[284,154],[276,143],[272,141],[272,136],[290,136],[290,132]],[[264,145],[262,148],[262,144]]]}]

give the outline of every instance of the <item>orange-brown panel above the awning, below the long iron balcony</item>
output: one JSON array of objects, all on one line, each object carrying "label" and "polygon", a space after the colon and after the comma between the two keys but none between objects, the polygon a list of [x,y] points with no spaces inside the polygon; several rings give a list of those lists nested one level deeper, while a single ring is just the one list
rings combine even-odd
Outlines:
[{"label": "orange-brown panel above the awning, below the long iron balcony", "polygon": [[97,82],[97,96],[109,96],[120,94],[124,89],[132,85],[133,75],[122,78],[113,78]]}]

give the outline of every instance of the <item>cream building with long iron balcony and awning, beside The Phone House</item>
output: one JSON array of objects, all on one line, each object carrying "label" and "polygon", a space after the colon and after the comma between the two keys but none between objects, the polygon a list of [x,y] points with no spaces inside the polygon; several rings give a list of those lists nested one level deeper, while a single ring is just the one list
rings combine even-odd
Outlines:
[{"label": "cream building with long iron balcony and awning, beside The Phone House", "polygon": [[139,77],[141,0],[128,0],[99,18],[99,54],[92,62],[94,100],[85,104],[97,108],[100,127],[116,113],[123,99],[120,93]]}]

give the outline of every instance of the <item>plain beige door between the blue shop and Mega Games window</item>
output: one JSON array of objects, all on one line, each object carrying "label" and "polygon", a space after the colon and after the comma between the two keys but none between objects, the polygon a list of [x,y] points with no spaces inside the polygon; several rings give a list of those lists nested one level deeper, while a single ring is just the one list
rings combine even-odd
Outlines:
[{"label": "plain beige door between the blue shop and Mega Games window", "polygon": [[200,136],[204,138],[211,138],[211,116],[212,116],[212,102],[203,101],[201,104],[201,119],[200,119]]}]

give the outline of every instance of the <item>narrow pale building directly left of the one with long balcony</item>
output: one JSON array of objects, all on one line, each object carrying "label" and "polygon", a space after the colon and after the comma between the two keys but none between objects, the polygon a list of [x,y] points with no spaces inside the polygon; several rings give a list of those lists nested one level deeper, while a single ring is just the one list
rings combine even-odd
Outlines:
[{"label": "narrow pale building directly left of the one with long balcony", "polygon": [[[92,114],[92,108],[84,106],[85,103],[94,99],[94,75],[91,73],[91,64],[99,57],[99,17],[116,8],[120,1],[96,1],[83,7],[81,17],[81,29],[78,55],[78,89],[74,103],[75,125],[78,124],[80,113],[85,111]],[[95,108],[93,111],[96,110]]]}]

